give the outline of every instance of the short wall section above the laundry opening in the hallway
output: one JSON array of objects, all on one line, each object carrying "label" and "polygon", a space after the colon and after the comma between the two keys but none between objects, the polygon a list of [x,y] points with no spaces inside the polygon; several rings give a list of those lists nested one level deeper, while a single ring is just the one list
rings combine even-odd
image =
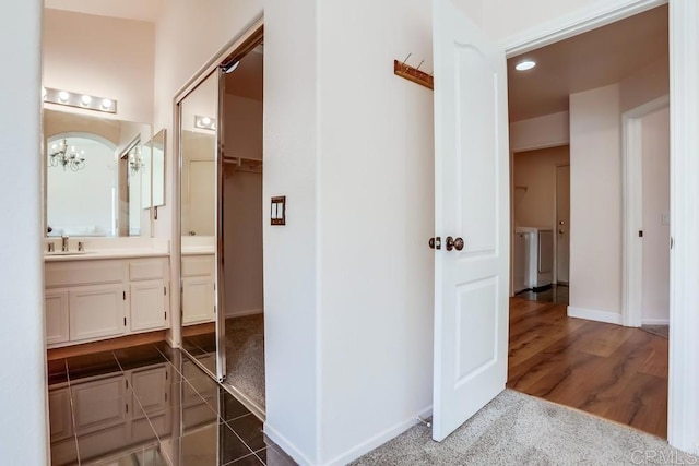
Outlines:
[{"label": "short wall section above the laundry opening in the hallway", "polygon": [[510,151],[566,145],[570,141],[568,111],[529,118],[510,123]]}]

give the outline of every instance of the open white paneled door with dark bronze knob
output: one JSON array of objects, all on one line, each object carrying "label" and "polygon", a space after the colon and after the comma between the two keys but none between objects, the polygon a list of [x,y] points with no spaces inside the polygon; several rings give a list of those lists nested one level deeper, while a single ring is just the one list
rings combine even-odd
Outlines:
[{"label": "open white paneled door with dark bronze knob", "polygon": [[433,438],[505,389],[509,159],[505,51],[434,0],[435,374]]}]

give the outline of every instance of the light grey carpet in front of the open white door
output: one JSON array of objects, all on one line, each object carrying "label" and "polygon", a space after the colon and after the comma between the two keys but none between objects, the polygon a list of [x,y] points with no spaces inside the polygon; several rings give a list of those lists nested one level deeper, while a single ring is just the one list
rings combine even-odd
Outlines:
[{"label": "light grey carpet in front of the open white door", "polygon": [[506,390],[443,442],[415,426],[354,465],[699,464],[660,438]]}]

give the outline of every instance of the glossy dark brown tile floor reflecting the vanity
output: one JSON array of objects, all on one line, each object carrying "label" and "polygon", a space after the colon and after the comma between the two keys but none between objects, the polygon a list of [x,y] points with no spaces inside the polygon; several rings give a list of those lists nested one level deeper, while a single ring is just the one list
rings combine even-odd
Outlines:
[{"label": "glossy dark brown tile floor reflecting the vanity", "polygon": [[48,372],[54,466],[295,464],[164,343],[49,361]]}]

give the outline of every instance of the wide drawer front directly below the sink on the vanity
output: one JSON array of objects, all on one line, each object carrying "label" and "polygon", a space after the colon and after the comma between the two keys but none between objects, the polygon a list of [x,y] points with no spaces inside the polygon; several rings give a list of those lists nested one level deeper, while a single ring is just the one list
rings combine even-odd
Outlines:
[{"label": "wide drawer front directly below the sink on the vanity", "polygon": [[121,261],[48,263],[45,271],[47,287],[123,282],[123,262]]}]

